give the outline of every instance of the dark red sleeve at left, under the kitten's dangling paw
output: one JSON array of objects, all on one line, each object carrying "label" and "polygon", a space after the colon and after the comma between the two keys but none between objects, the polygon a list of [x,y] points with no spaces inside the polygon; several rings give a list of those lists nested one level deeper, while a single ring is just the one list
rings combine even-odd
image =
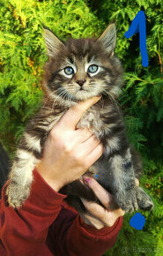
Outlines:
[{"label": "dark red sleeve at left, under the kitten's dangling paw", "polygon": [[41,177],[38,181],[38,175],[33,172],[31,195],[18,210],[7,205],[4,186],[0,204],[0,239],[4,245],[4,255],[7,252],[13,256],[52,255],[45,241],[48,228],[56,220],[65,196],[54,192]]}]

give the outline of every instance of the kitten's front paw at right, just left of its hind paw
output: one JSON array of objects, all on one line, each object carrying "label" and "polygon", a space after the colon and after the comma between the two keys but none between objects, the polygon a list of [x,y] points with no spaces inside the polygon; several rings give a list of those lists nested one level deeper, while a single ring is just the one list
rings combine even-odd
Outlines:
[{"label": "kitten's front paw at right, just left of its hind paw", "polygon": [[132,213],[138,209],[136,190],[118,192],[115,194],[116,202],[126,213]]}]

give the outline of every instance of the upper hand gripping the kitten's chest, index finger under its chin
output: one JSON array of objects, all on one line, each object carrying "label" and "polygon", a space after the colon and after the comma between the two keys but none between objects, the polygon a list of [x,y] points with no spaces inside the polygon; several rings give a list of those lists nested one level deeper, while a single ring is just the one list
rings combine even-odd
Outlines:
[{"label": "upper hand gripping the kitten's chest, index finger under its chin", "polygon": [[86,128],[76,130],[85,111],[99,100],[93,97],[71,107],[48,135],[37,169],[56,192],[81,177],[103,153],[100,140],[92,132]]}]

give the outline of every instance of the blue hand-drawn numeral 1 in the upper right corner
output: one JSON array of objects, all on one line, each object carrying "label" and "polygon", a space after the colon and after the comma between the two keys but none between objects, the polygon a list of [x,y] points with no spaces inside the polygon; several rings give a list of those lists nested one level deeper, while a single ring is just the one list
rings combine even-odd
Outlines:
[{"label": "blue hand-drawn numeral 1 in the upper right corner", "polygon": [[148,66],[148,54],[146,49],[146,23],[144,11],[138,11],[136,17],[132,20],[129,30],[124,34],[126,38],[130,38],[133,34],[139,32],[139,46],[142,56],[142,65]]}]

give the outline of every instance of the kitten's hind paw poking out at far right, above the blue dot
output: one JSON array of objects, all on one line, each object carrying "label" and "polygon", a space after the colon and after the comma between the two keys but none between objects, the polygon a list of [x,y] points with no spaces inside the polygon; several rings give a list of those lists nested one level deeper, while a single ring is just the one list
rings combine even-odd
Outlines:
[{"label": "kitten's hind paw poking out at far right, above the blue dot", "polygon": [[137,187],[137,204],[144,211],[151,211],[154,207],[152,199],[141,187]]}]

